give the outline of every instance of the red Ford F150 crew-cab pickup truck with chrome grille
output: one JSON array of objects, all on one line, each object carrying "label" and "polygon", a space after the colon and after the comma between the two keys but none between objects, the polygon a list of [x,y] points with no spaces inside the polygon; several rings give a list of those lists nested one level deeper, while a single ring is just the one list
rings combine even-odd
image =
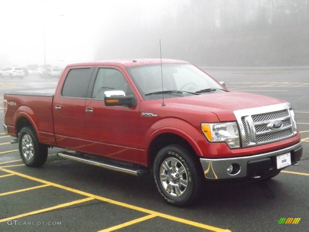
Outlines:
[{"label": "red Ford F150 crew-cab pickup truck with chrome grille", "polygon": [[152,170],[169,203],[192,203],[203,179],[269,179],[302,156],[292,106],[230,92],[169,59],[68,65],[56,91],[4,95],[4,130],[23,162],[59,156],[133,175]]}]

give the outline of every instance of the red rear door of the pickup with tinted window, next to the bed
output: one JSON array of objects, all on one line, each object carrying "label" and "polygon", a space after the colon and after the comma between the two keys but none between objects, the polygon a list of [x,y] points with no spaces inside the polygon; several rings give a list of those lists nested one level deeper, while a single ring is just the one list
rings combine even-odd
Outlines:
[{"label": "red rear door of the pickup with tinted window, next to the bed", "polygon": [[85,99],[92,67],[66,70],[53,101],[54,133],[59,147],[82,150],[85,142]]}]

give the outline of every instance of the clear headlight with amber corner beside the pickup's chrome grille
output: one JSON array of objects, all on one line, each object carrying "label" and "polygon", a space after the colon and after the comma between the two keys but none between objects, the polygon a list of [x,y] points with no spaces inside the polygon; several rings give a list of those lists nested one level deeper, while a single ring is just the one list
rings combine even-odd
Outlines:
[{"label": "clear headlight with amber corner beside the pickup's chrome grille", "polygon": [[225,142],[230,148],[240,147],[236,122],[202,123],[201,130],[210,142]]}]

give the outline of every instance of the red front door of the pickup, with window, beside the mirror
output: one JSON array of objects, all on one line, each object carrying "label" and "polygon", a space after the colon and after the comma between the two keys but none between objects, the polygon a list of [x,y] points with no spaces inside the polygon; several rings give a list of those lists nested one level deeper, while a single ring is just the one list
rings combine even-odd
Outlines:
[{"label": "red front door of the pickup, with window, beside the mirror", "polygon": [[139,101],[136,106],[105,106],[104,92],[121,90],[133,95],[126,73],[116,66],[95,70],[90,96],[85,101],[86,140],[90,153],[142,163],[139,150]]}]

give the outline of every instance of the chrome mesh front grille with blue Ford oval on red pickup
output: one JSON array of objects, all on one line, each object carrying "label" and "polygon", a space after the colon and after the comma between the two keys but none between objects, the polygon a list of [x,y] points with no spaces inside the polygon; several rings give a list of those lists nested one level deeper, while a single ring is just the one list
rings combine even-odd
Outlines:
[{"label": "chrome mesh front grille with blue Ford oval on red pickup", "polygon": [[236,110],[242,147],[284,140],[297,134],[295,114],[289,103]]}]

